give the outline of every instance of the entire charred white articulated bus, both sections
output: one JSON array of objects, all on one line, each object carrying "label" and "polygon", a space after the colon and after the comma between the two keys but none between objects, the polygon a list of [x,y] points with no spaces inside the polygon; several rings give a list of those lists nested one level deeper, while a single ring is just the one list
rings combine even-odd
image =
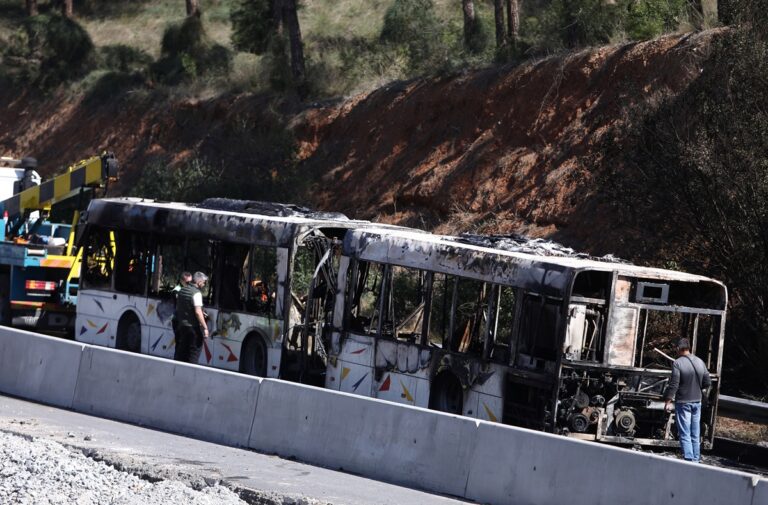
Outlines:
[{"label": "entire charred white articulated bus, both sections", "polygon": [[704,447],[713,440],[727,304],[717,281],[259,202],[105,199],[81,221],[79,341],[172,357],[173,286],[201,270],[202,365],[674,446],[662,393],[686,336],[712,375]]}]

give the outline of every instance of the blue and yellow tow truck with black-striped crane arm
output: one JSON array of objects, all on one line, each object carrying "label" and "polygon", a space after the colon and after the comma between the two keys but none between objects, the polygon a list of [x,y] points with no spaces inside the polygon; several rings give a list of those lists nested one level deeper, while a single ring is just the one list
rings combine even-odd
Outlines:
[{"label": "blue and yellow tow truck with black-striped crane arm", "polygon": [[[75,226],[80,209],[117,178],[117,159],[93,156],[45,182],[36,168],[34,158],[0,158],[0,324],[72,336],[81,263]],[[73,203],[71,222],[51,221],[52,209]]]}]

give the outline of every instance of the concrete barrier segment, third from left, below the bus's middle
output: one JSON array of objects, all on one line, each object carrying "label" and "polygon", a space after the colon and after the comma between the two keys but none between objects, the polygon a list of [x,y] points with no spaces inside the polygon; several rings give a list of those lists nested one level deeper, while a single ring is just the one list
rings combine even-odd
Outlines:
[{"label": "concrete barrier segment, third from left, below the bus's middle", "polygon": [[249,447],[462,496],[476,421],[266,379]]}]

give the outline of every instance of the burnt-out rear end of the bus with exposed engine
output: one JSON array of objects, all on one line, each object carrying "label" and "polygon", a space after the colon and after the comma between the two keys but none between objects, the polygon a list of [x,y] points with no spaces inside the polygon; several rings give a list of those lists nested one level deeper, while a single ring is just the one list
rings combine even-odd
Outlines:
[{"label": "burnt-out rear end of the bus with exposed engine", "polygon": [[[611,279],[607,272],[582,272],[575,279],[556,429],[628,443],[675,440],[674,415],[665,411],[663,395],[677,342],[683,337],[690,340],[692,352],[716,382],[723,288],[710,282],[619,276],[612,290]],[[713,422],[714,408],[705,402],[705,441],[711,441]]]}]

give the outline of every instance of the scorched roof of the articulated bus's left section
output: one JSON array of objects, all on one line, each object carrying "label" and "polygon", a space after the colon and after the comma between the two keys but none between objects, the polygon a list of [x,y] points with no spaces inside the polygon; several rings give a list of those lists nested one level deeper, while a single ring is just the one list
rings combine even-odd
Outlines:
[{"label": "scorched roof of the articulated bus's left section", "polygon": [[[312,230],[345,231],[372,226],[369,221],[348,219],[342,214],[324,214],[295,206],[275,205],[273,214],[255,213],[247,202],[216,199],[200,205],[158,202],[140,198],[103,198],[92,200],[83,221],[105,227],[133,231],[167,233],[192,238],[210,238],[227,242],[289,247],[298,235]],[[261,204],[252,207],[264,209]],[[235,211],[228,209],[238,209]],[[299,210],[297,210],[299,209]],[[269,210],[269,209],[268,209]],[[268,211],[267,210],[267,211]],[[378,225],[387,229],[386,225]],[[389,227],[395,229],[396,227]],[[339,234],[339,238],[341,238]]]}]

